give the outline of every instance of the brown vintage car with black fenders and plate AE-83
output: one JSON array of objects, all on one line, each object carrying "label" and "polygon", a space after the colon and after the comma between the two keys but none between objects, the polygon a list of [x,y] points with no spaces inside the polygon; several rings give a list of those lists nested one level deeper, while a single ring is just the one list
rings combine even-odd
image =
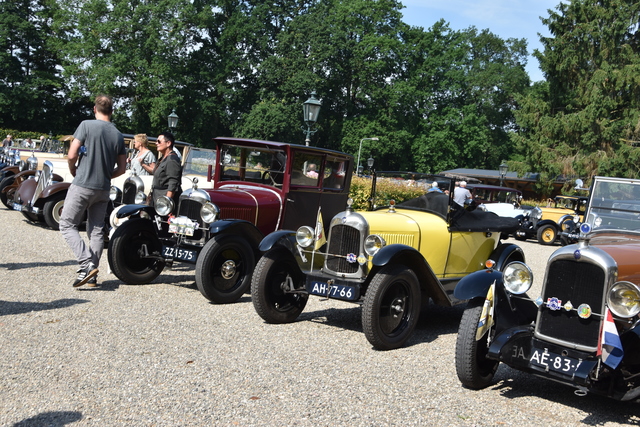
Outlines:
[{"label": "brown vintage car with black fenders and plate AE-83", "polygon": [[487,387],[502,362],[580,395],[640,399],[640,180],[596,177],[580,228],[549,258],[539,296],[521,262],[460,281],[463,385]]}]

